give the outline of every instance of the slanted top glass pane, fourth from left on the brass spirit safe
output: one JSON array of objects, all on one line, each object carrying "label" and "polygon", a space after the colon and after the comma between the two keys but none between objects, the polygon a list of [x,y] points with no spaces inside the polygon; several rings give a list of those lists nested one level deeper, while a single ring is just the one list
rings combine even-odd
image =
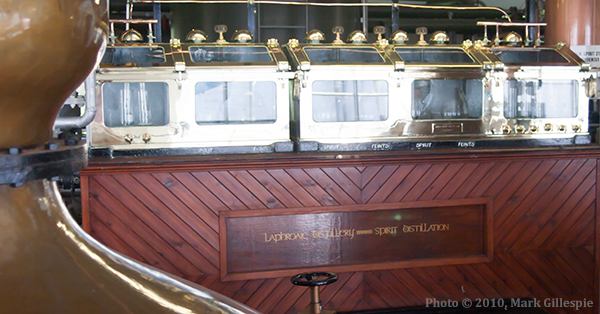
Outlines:
[{"label": "slanted top glass pane, fourth from left on the brass spirit safe", "polygon": [[462,49],[396,48],[396,52],[405,63],[475,63]]}]

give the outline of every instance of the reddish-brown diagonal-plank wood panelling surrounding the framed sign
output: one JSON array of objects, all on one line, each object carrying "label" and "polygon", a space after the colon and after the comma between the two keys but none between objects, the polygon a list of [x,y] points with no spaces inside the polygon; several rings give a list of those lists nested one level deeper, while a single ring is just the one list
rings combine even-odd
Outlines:
[{"label": "reddish-brown diagonal-plank wood panelling surrounding the framed sign", "polygon": [[297,313],[308,306],[308,289],[287,277],[220,281],[220,211],[490,197],[493,262],[340,273],[322,289],[324,308],[418,306],[428,298],[597,304],[598,157],[586,150],[96,163],[82,171],[84,227],[118,252],[261,312]]}]

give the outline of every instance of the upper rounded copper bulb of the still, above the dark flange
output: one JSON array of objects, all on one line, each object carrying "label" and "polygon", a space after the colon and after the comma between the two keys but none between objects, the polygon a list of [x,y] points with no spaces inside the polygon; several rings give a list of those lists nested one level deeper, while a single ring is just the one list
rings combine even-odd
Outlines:
[{"label": "upper rounded copper bulb of the still, above the dark flange", "polygon": [[98,58],[106,2],[0,2],[0,149],[43,144]]}]

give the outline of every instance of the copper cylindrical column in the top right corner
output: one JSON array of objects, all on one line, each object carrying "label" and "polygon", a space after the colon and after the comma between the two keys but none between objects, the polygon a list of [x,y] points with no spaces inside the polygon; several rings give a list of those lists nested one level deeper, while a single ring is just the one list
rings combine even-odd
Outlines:
[{"label": "copper cylindrical column in the top right corner", "polygon": [[546,0],[546,42],[554,46],[559,42],[571,45],[598,45],[600,0]]}]

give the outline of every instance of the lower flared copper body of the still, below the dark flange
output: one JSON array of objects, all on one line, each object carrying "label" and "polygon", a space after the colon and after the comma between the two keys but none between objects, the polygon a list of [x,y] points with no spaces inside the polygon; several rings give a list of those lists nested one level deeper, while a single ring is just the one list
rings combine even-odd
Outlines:
[{"label": "lower flared copper body of the still, below the dark flange", "polygon": [[2,313],[258,313],[106,249],[54,182],[0,185]]}]

